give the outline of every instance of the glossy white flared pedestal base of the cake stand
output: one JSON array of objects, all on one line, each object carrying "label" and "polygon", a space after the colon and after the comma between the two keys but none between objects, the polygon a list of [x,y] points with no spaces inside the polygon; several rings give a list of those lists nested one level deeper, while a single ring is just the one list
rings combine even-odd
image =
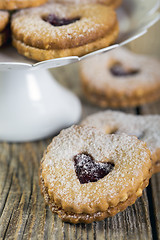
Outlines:
[{"label": "glossy white flared pedestal base of the cake stand", "polygon": [[0,141],[45,138],[80,115],[78,98],[47,70],[0,72]]}]

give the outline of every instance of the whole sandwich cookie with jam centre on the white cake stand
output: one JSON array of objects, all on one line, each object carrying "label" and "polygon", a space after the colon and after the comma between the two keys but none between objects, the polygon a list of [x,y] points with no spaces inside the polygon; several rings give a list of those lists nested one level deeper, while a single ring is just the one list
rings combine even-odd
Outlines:
[{"label": "whole sandwich cookie with jam centre on the white cake stand", "polygon": [[48,3],[14,14],[12,32],[20,54],[42,61],[106,47],[117,38],[118,23],[115,11],[102,5]]}]

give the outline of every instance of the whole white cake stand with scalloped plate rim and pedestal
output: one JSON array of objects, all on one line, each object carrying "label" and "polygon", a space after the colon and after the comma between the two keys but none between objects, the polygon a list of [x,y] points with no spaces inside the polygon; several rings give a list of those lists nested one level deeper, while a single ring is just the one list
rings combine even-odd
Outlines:
[{"label": "whole white cake stand with scalloped plate rim and pedestal", "polygon": [[117,43],[87,54],[43,62],[20,56],[13,47],[0,50],[0,141],[22,142],[45,138],[75,124],[81,104],[46,70],[80,61],[125,45],[157,22],[158,0],[123,0],[118,10]]}]

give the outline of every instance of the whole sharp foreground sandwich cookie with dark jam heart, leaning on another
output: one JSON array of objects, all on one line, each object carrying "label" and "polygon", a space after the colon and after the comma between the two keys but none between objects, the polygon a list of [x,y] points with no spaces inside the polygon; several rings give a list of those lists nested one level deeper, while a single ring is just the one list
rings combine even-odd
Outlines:
[{"label": "whole sharp foreground sandwich cookie with dark jam heart, leaning on another", "polygon": [[71,223],[91,223],[124,210],[142,195],[150,177],[150,151],[144,142],[88,126],[61,131],[40,166],[46,203]]}]

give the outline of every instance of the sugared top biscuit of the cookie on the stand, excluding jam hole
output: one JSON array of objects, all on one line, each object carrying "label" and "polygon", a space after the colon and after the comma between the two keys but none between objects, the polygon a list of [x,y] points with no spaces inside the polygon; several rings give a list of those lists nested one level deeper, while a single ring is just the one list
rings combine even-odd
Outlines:
[{"label": "sugared top biscuit of the cookie on the stand, excluding jam hole", "polygon": [[[43,17],[54,14],[58,18],[77,18],[67,26],[54,27]],[[90,43],[104,37],[116,23],[113,10],[101,5],[68,6],[48,3],[44,6],[21,10],[12,17],[14,37],[29,46],[41,49],[66,49]]]}]

